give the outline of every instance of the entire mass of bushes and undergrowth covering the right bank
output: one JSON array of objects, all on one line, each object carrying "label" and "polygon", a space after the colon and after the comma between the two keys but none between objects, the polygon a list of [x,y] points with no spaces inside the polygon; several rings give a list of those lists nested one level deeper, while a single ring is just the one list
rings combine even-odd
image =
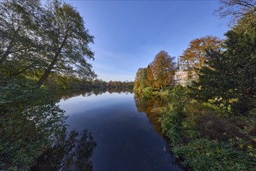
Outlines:
[{"label": "entire mass of bushes and undergrowth covering the right bank", "polygon": [[191,99],[174,86],[160,119],[163,134],[181,165],[191,170],[254,170],[254,110],[232,117],[226,110]]}]

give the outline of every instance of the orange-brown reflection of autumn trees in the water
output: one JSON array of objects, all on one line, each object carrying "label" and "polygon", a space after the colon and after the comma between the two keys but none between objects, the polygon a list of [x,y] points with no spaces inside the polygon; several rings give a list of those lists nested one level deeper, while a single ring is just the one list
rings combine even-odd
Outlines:
[{"label": "orange-brown reflection of autumn trees in the water", "polygon": [[143,94],[135,93],[135,105],[141,113],[146,113],[155,130],[162,134],[160,125],[160,113],[163,107],[167,106],[167,99],[160,96],[147,97]]}]

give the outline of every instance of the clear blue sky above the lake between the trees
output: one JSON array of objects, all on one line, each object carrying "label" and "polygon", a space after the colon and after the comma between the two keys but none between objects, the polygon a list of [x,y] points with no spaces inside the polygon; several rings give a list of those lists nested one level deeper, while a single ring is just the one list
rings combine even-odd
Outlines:
[{"label": "clear blue sky above the lake between the trees", "polygon": [[191,40],[224,38],[227,19],[212,13],[218,1],[65,1],[77,8],[92,34],[93,69],[104,81],[133,81],[163,50],[177,57]]}]

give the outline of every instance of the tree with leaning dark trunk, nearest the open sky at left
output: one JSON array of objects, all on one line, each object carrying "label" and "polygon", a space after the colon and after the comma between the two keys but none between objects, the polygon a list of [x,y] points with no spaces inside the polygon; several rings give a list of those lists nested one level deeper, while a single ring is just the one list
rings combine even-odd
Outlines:
[{"label": "tree with leaning dark trunk, nearest the open sky at left", "polygon": [[44,42],[44,74],[37,84],[41,85],[52,72],[75,73],[89,78],[96,77],[86,58],[93,58],[88,47],[93,36],[88,33],[82,16],[72,5],[51,2],[44,9],[40,33]]}]

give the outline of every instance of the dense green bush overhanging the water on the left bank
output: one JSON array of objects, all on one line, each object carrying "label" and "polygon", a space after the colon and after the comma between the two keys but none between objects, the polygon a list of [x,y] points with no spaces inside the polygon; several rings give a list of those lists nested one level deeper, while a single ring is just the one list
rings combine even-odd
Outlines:
[{"label": "dense green bush overhanging the water on the left bank", "polygon": [[29,169],[66,126],[57,101],[33,85],[28,80],[1,82],[0,169]]}]

